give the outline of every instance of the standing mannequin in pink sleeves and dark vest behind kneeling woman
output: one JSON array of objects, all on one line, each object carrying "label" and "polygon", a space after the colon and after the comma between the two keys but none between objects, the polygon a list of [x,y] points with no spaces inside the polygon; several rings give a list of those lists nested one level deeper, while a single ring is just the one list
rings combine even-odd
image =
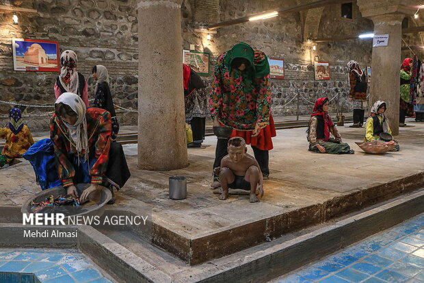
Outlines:
[{"label": "standing mannequin in pink sleeves and dark vest behind kneeling woman", "polygon": [[88,105],[88,84],[84,76],[78,73],[77,54],[72,50],[65,50],[60,55],[60,74],[55,83],[55,98],[62,93],[75,93],[83,99],[85,107]]}]

